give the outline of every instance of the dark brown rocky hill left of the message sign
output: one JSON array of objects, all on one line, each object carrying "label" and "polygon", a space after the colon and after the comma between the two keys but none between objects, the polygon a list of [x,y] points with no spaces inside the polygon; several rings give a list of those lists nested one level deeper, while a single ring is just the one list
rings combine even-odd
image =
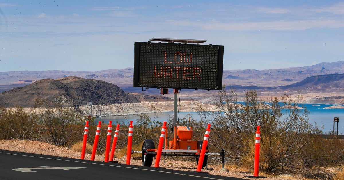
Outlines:
[{"label": "dark brown rocky hill left of the message sign", "polygon": [[[66,100],[78,100],[93,102],[94,105],[106,105],[137,103],[140,99],[144,99],[146,95],[134,96],[125,93],[121,88],[112,83],[69,76],[57,80],[43,79],[24,87],[17,87],[2,92],[0,94],[0,105],[33,107],[38,97],[54,102],[59,96],[64,97]],[[154,97],[149,99],[154,99]]]}]

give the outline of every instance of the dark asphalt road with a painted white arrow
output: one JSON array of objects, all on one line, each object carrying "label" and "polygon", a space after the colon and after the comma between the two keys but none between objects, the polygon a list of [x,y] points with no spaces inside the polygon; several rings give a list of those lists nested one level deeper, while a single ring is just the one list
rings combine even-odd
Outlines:
[{"label": "dark asphalt road with a painted white arrow", "polygon": [[195,171],[178,171],[118,163],[47,156],[0,149],[1,180],[242,180]]}]

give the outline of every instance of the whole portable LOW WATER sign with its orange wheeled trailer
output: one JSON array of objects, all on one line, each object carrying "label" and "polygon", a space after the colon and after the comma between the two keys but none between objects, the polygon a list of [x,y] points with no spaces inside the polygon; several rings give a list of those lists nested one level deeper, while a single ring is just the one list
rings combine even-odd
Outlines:
[{"label": "whole portable LOW WATER sign with its orange wheeled trailer", "polygon": [[[160,94],[168,94],[162,88],[174,89],[173,138],[167,141],[166,132],[165,148],[161,155],[195,156],[197,163],[203,140],[192,141],[192,127],[178,126],[177,95],[178,89],[222,90],[224,47],[200,45],[204,42],[206,40],[151,38],[147,43],[135,42],[134,53],[133,87],[141,87],[142,91],[147,91],[150,87],[160,88]],[[156,154],[154,142],[144,140],[143,166],[151,166]],[[207,156],[204,156],[202,167],[207,164]]]}]

